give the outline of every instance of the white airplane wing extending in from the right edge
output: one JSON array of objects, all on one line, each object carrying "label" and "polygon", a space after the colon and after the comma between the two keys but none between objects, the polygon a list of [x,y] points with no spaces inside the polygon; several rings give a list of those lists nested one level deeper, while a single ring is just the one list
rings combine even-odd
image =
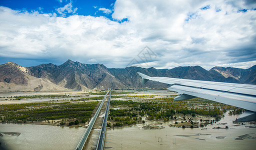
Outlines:
[{"label": "white airplane wing extending in from the right edge", "polygon": [[237,122],[256,120],[256,85],[150,77],[140,72],[137,73],[142,77],[143,84],[148,80],[170,84],[167,89],[179,93],[174,100],[201,97],[248,110],[236,118]]}]

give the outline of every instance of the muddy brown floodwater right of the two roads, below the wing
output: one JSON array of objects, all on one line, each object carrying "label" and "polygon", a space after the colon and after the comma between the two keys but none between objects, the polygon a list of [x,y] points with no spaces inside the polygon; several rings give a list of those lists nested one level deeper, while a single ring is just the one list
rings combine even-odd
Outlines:
[{"label": "muddy brown floodwater right of the two roads, below the wing", "polygon": [[[199,128],[169,127],[173,122],[163,122],[163,129],[143,129],[142,126],[152,123],[133,125],[131,127],[109,128],[106,131],[105,149],[255,149],[256,128],[254,124],[233,126],[232,120],[238,115],[226,116],[217,124]],[[228,129],[212,129],[213,127]],[[235,138],[248,134],[249,138]],[[254,139],[253,139],[254,138]]]}]

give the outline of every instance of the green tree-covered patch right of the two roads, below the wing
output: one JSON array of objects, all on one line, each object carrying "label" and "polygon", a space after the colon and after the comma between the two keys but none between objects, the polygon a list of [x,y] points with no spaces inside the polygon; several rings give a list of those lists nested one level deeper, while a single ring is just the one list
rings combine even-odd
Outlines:
[{"label": "green tree-covered patch right of the two roads, below the wing", "polygon": [[113,126],[142,122],[141,117],[143,116],[146,116],[147,120],[167,121],[176,119],[174,115],[177,113],[190,115],[191,117],[195,117],[197,114],[219,118],[226,110],[231,110],[232,113],[240,113],[242,111],[240,108],[203,98],[174,101],[173,96],[152,98],[146,102],[111,100],[110,105],[112,107],[120,107],[119,109],[109,109],[108,119],[119,122],[118,124],[113,124]]}]

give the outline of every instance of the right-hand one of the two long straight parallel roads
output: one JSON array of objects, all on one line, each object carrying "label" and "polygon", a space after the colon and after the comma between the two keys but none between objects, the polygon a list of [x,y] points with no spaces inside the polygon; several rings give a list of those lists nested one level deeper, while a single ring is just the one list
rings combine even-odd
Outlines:
[{"label": "right-hand one of the two long straight parallel roads", "polygon": [[106,121],[107,121],[107,116],[108,116],[110,97],[111,97],[111,89],[110,89],[109,96],[108,96],[104,120],[103,120],[103,123],[101,126],[100,135],[98,138],[97,150],[102,150],[103,146],[104,146],[104,139],[105,139],[105,133],[106,133]]}]

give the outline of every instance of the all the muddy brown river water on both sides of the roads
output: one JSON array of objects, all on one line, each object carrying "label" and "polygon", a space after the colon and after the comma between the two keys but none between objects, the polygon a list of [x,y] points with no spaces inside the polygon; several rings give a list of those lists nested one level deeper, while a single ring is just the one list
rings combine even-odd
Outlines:
[{"label": "all the muddy brown river water on both sides of the roads", "polygon": [[[254,124],[233,126],[237,115],[226,116],[217,123],[201,128],[169,127],[172,122],[163,122],[163,129],[143,129],[145,124],[106,131],[105,149],[255,149],[256,128]],[[228,129],[212,129],[212,127]],[[20,132],[20,135],[2,134],[0,149],[75,149],[86,128],[59,127],[35,124],[0,124],[0,132]],[[247,134],[247,138],[241,135]],[[254,139],[253,139],[254,138]]]}]

